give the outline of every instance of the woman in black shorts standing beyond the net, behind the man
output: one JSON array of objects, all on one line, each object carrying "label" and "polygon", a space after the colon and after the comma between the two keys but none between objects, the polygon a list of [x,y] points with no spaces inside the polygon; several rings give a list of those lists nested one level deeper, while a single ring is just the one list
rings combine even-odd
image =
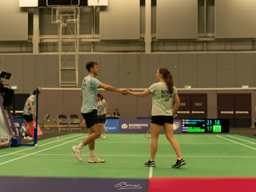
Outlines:
[{"label": "woman in black shorts standing beyond the net, behind the man", "polygon": [[[100,128],[101,128],[101,131],[103,133],[103,139],[106,139],[106,136],[105,136],[105,127],[104,127],[104,124],[105,124],[105,121],[106,121],[106,118],[108,117],[108,105],[107,105],[107,102],[103,99],[103,96],[98,93],[97,94],[97,110],[98,110],[98,119],[100,121]],[[98,137],[98,139],[101,139],[101,136]]]}]

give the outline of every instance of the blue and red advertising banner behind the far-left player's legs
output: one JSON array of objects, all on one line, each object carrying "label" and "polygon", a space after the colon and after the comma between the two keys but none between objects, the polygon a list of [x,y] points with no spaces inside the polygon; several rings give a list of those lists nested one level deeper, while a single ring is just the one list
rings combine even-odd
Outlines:
[{"label": "blue and red advertising banner behind the far-left player's legs", "polygon": [[[24,138],[22,136],[22,134],[26,131],[26,127],[27,127],[28,123],[23,118],[13,119],[13,121],[14,121],[16,128],[19,130],[19,138]],[[33,126],[29,130],[30,134],[28,134],[28,136],[31,135],[32,137],[34,137],[34,128],[36,128],[36,120],[35,119],[34,119]],[[43,134],[44,133],[40,129],[39,125],[37,124],[37,136],[43,135]]]}]

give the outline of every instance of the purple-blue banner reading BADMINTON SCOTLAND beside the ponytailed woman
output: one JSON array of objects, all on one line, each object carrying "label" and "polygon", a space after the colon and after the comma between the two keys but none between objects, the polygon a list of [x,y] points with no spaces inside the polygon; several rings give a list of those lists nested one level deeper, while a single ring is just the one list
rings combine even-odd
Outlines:
[{"label": "purple-blue banner reading BADMINTON SCOTLAND beside the ponytailed woman", "polygon": [[120,119],[119,132],[146,132],[151,119]]}]

